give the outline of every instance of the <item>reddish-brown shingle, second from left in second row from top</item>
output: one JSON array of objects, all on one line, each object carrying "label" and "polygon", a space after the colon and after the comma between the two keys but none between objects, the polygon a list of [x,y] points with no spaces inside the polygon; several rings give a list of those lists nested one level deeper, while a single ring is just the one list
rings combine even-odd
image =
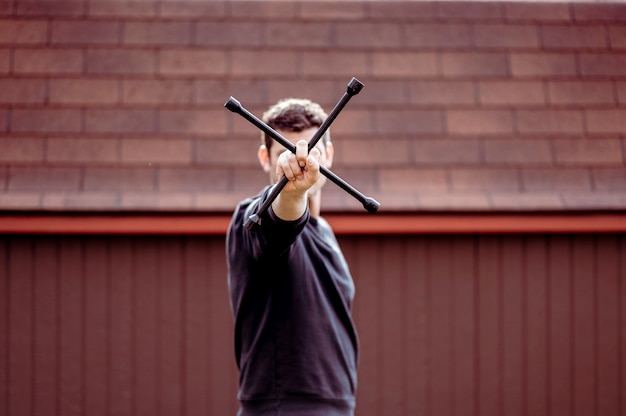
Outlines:
[{"label": "reddish-brown shingle, second from left in second row from top", "polygon": [[115,45],[121,24],[114,21],[53,21],[51,43],[70,45]]}]

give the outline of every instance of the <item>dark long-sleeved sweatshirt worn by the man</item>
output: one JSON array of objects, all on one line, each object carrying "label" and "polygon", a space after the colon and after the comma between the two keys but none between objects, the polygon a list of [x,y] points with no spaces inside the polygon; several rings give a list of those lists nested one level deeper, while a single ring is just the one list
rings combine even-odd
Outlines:
[{"label": "dark long-sleeved sweatshirt worn by the man", "polygon": [[227,235],[241,416],[349,416],[358,340],[354,283],[328,223],[268,209],[243,224],[270,187],[239,204]]}]

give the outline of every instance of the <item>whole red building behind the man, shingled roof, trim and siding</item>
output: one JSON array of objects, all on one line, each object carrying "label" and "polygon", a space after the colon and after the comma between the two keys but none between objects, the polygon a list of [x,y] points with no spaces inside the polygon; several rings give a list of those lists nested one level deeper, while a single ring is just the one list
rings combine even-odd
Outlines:
[{"label": "whole red building behind the man, shingled roof, trim and siding", "polygon": [[0,414],[235,414],[224,232],[268,178],[224,102],[329,111],[356,77],[333,171],[382,206],[329,183],[323,209],[357,284],[357,414],[623,415],[625,22],[0,0]]}]

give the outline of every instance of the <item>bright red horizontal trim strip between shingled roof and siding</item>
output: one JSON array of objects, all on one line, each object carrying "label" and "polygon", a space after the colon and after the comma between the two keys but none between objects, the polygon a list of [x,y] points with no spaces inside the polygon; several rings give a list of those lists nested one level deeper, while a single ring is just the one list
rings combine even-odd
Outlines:
[{"label": "bright red horizontal trim strip between shingled roof and siding", "polygon": [[[0,215],[2,234],[225,235],[230,214]],[[621,233],[626,213],[328,214],[336,234]]]}]

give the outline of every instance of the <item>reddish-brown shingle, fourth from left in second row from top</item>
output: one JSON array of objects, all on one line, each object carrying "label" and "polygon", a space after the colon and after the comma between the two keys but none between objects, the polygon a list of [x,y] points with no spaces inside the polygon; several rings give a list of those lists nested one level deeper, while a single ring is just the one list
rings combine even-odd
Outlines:
[{"label": "reddish-brown shingle, fourth from left in second row from top", "polygon": [[266,44],[262,22],[210,21],[197,22],[194,44],[210,46],[261,46]]}]

